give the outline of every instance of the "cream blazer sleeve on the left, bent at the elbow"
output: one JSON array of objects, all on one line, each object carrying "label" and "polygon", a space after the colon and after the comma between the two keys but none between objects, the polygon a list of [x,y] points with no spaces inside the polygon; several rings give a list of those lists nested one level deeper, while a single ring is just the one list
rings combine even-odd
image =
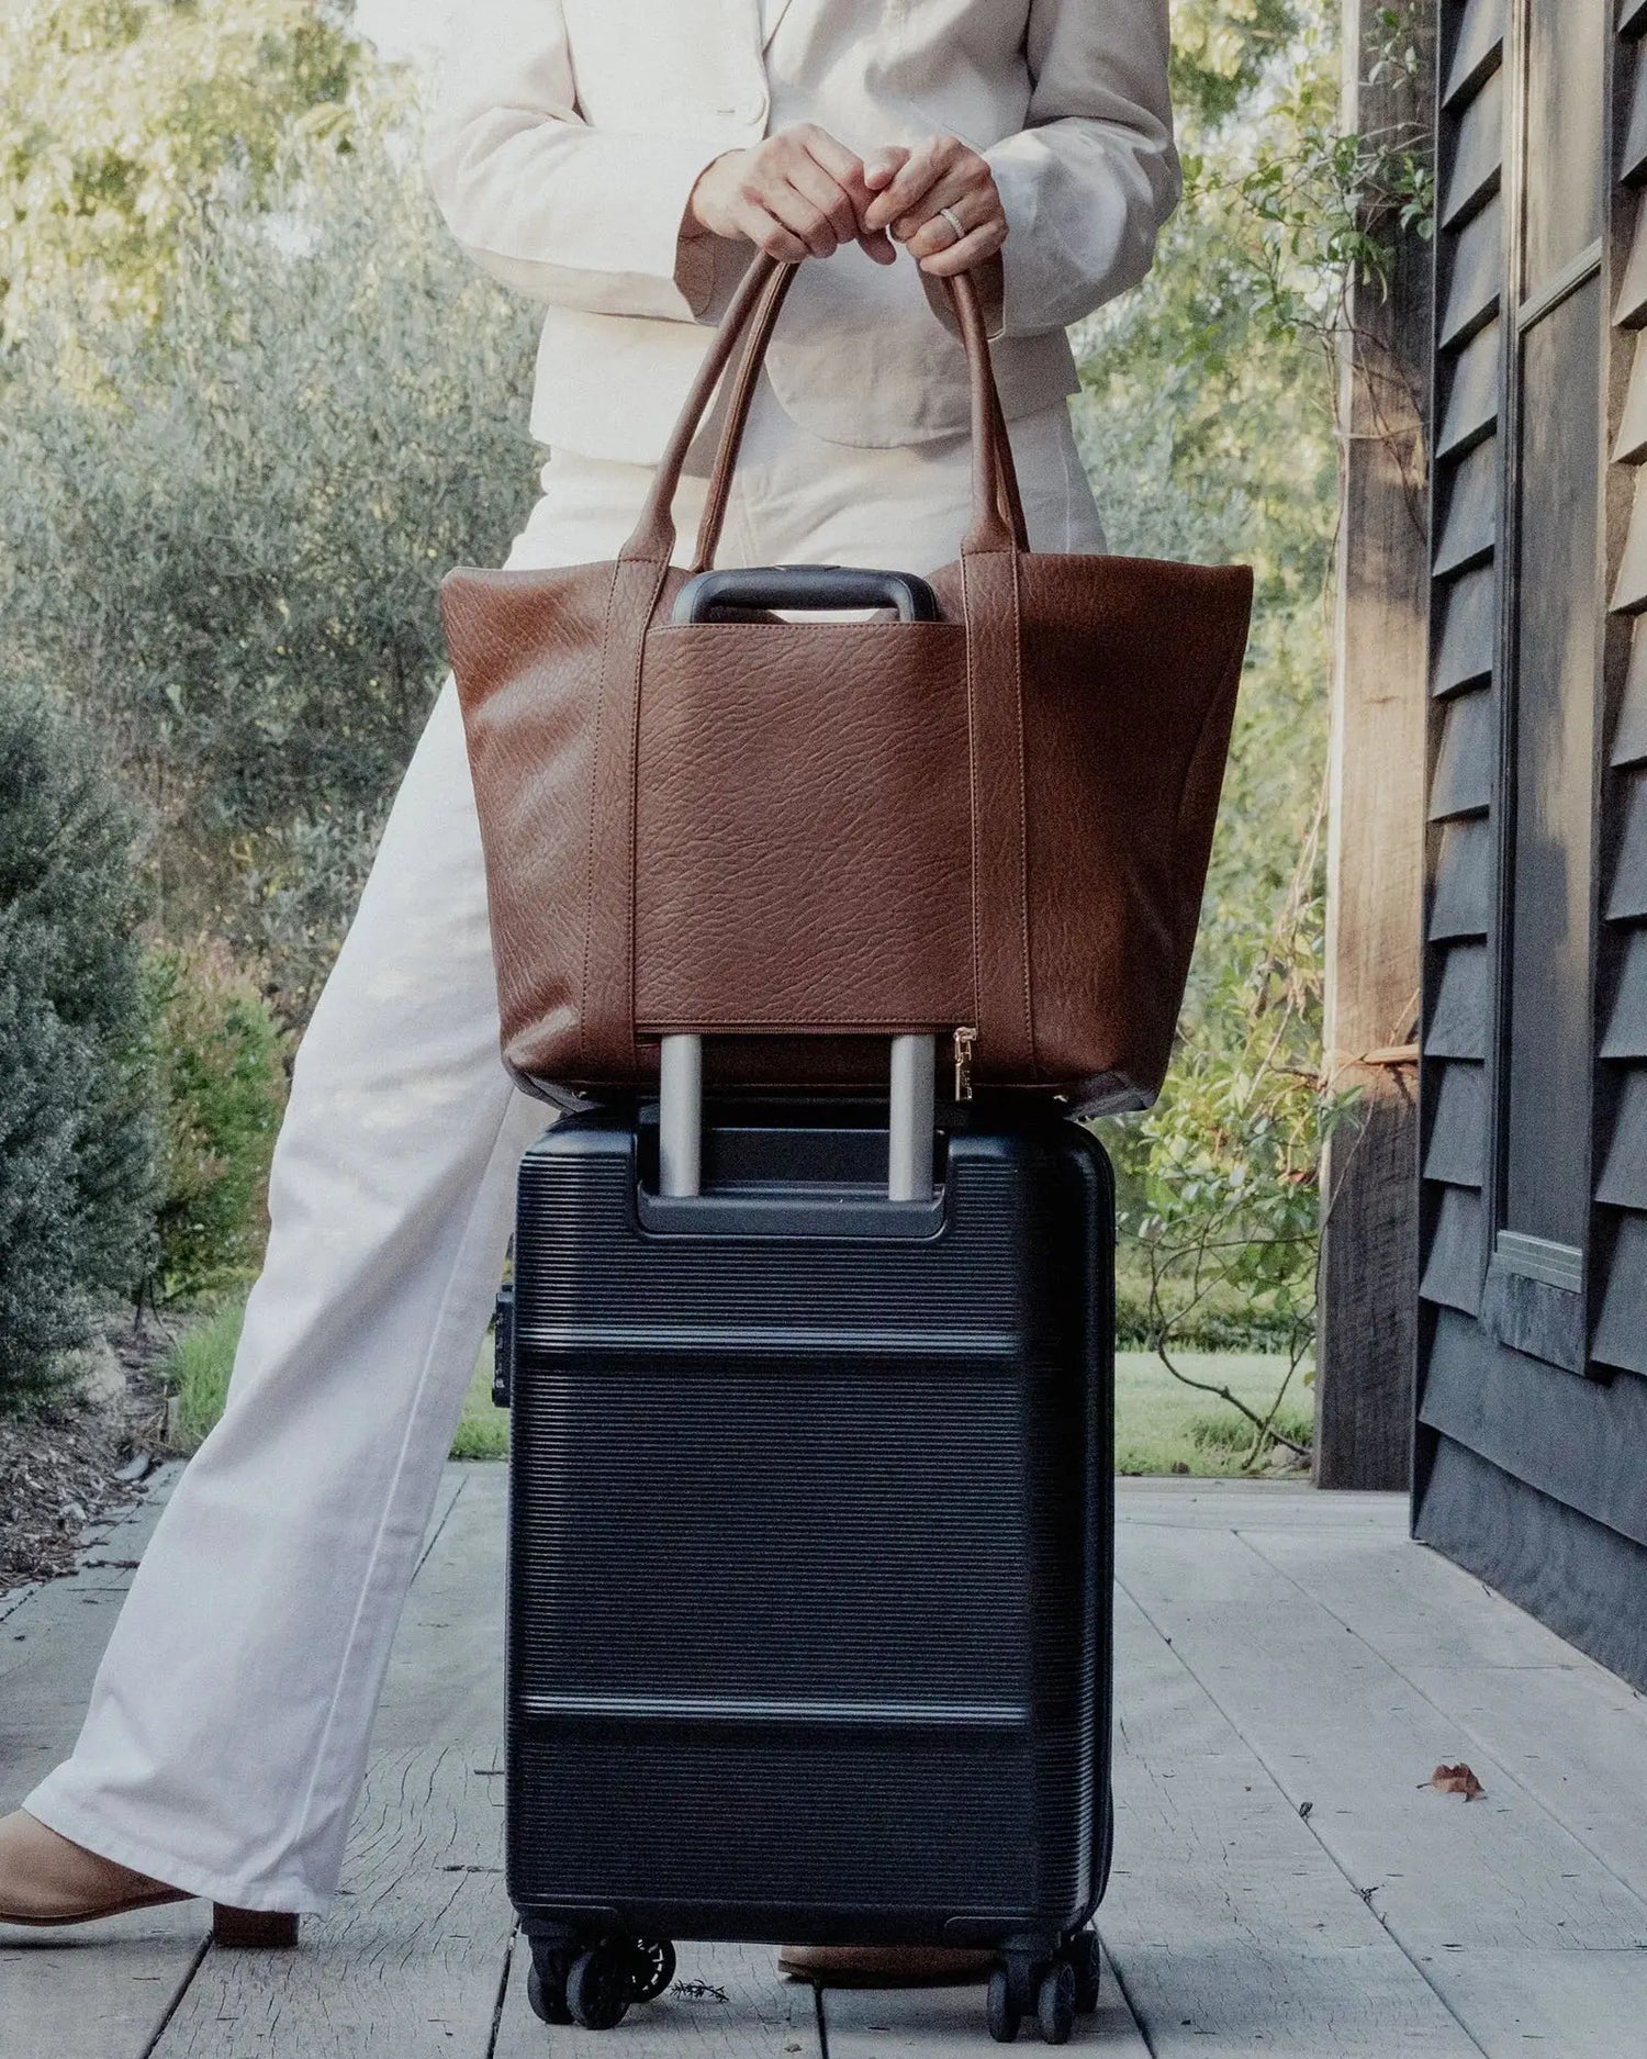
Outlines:
[{"label": "cream blazer sleeve on the left, bent at the elbow", "polygon": [[424,167],[451,233],[506,286],[601,315],[694,321],[712,237],[681,235],[719,152],[690,136],[591,128],[560,0],[471,0],[439,70]]}]

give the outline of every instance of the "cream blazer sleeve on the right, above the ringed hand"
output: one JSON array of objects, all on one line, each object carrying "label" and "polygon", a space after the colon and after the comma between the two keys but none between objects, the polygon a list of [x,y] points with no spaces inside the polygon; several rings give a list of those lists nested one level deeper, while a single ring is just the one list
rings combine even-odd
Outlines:
[{"label": "cream blazer sleeve on the right, above the ringed hand", "polygon": [[1029,113],[984,156],[1007,214],[996,334],[1068,327],[1149,272],[1182,173],[1167,0],[1031,0]]}]

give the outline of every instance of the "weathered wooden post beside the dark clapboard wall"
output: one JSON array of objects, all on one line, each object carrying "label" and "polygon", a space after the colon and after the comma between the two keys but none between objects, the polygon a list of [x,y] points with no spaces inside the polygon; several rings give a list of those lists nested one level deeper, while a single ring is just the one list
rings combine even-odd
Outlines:
[{"label": "weathered wooden post beside the dark clapboard wall", "polygon": [[[1386,33],[1344,6],[1344,124],[1433,136],[1435,0],[1416,78],[1367,82]],[[1431,245],[1406,237],[1388,299],[1357,286],[1342,371],[1328,830],[1328,1071],[1363,1089],[1322,1172],[1316,1485],[1410,1476],[1418,1318],[1418,955],[1425,861]]]}]

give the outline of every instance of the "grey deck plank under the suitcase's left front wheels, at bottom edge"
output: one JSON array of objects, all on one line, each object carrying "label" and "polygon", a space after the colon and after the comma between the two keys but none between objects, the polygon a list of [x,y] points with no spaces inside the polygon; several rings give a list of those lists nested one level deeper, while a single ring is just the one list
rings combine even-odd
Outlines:
[{"label": "grey deck plank under the suitcase's left front wheels, at bottom edge", "polygon": [[778,1979],[770,1944],[679,1946],[675,1985],[630,2010],[620,2030],[539,2024],[527,2005],[529,1968],[517,1938],[494,2059],[821,2059],[813,1991]]}]

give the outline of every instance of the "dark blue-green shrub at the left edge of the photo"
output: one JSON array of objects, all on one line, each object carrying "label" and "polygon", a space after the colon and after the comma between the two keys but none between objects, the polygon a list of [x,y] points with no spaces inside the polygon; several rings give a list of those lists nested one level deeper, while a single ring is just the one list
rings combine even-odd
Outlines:
[{"label": "dark blue-green shrub at the left edge of the photo", "polygon": [[0,684],[0,1408],[152,1264],[136,836],[86,735]]}]

